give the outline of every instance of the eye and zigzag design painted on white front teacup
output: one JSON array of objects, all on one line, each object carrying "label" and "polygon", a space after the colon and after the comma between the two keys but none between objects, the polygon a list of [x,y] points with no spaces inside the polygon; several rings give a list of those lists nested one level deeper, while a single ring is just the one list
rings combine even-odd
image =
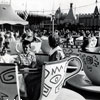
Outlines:
[{"label": "eye and zigzag design painted on white front teacup", "polygon": [[65,71],[66,71],[65,67],[62,65],[59,67],[54,66],[54,68],[50,70],[45,69],[45,80],[48,81],[48,84],[45,83],[43,87],[44,88],[43,95],[45,97],[47,97],[50,94],[52,89],[55,89],[55,94],[59,92],[59,90],[61,89],[63,85],[63,80],[65,78],[64,74],[62,75],[62,72],[65,72]]}]

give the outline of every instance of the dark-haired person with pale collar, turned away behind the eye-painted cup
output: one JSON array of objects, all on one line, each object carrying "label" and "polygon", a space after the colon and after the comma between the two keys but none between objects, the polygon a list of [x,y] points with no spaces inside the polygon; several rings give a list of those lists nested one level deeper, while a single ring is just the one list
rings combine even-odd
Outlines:
[{"label": "dark-haired person with pale collar, turned away behind the eye-painted cup", "polygon": [[50,47],[52,48],[50,50],[50,57],[49,61],[57,61],[61,60],[65,57],[65,54],[62,50],[62,48],[59,46],[60,45],[60,37],[58,34],[52,34],[48,37],[48,42]]}]

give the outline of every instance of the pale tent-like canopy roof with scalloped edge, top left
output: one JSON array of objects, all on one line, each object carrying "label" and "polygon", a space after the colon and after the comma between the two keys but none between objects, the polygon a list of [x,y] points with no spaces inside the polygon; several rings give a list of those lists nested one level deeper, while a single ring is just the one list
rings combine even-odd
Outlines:
[{"label": "pale tent-like canopy roof with scalloped edge, top left", "polygon": [[21,24],[27,25],[28,22],[23,20],[19,17],[14,10],[12,9],[11,5],[8,4],[0,4],[0,24]]}]

